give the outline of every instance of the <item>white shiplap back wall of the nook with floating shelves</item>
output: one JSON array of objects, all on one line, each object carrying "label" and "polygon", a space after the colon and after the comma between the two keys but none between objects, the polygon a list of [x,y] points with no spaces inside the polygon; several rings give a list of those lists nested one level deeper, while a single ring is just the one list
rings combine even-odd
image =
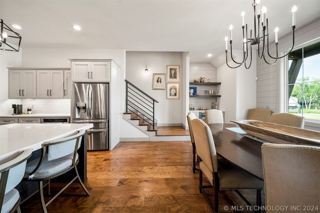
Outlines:
[{"label": "white shiplap back wall of the nook with floating shelves", "polygon": [[[200,79],[200,77],[205,78],[204,82],[207,82],[207,79],[211,79],[211,82],[216,82],[216,68],[210,63],[190,63],[189,81],[193,82],[194,79]],[[218,86],[191,86],[196,87],[196,92],[199,93],[199,95],[204,95],[205,90],[217,90],[218,92]],[[215,98],[190,97],[189,104],[192,104],[195,110],[201,108],[201,106],[207,109],[211,109],[211,104],[213,103],[213,105],[215,105],[215,100]]]}]

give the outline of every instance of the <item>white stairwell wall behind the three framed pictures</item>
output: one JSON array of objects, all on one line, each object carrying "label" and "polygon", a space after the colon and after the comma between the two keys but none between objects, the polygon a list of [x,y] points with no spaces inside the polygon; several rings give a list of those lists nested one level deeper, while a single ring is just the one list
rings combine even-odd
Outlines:
[{"label": "white stairwell wall behind the three framed pictures", "polygon": [[[181,88],[184,86],[182,53],[127,51],[125,64],[125,79],[159,102],[155,103],[154,107],[154,117],[158,120],[158,126],[181,125],[184,116],[181,109],[185,107],[181,98]],[[180,66],[179,99],[166,99],[166,90],[152,90],[152,74],[166,73],[166,65]],[[148,69],[148,74],[144,73],[145,68]]]}]

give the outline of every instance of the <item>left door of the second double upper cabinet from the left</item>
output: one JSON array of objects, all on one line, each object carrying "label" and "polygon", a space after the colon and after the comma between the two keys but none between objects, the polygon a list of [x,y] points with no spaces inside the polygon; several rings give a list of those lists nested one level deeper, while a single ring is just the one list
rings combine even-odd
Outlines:
[{"label": "left door of the second double upper cabinet from the left", "polygon": [[49,70],[36,70],[36,97],[50,98]]}]

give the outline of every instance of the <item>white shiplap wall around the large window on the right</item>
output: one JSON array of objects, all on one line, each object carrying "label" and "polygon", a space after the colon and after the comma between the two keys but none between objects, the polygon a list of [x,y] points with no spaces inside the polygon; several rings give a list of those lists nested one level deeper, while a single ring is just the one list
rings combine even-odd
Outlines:
[{"label": "white shiplap wall around the large window on the right", "polygon": [[[305,26],[296,26],[294,36],[294,47],[298,48],[303,43],[320,37],[320,18],[310,22]],[[292,46],[292,34],[279,38],[278,51],[284,52]],[[274,41],[271,41],[269,47],[270,54],[275,55]],[[281,72],[282,70],[282,72]],[[263,59],[257,60],[256,82],[256,107],[271,109],[273,113],[285,112],[285,76],[284,60],[278,60],[274,65],[268,65]],[[308,124],[305,123],[305,128]],[[310,128],[313,129],[313,128]],[[320,127],[315,130],[319,130]]]}]

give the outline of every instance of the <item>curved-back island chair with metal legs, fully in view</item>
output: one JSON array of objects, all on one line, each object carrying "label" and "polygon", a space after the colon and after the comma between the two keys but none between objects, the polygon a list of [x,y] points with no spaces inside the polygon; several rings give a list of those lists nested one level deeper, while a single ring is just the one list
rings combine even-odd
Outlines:
[{"label": "curved-back island chair with metal legs, fully in view", "polygon": [[[26,181],[38,182],[40,204],[43,213],[47,213],[46,207],[76,179],[80,183],[85,194],[90,196],[83,185],[76,168],[76,165],[79,163],[77,150],[80,148],[81,138],[84,134],[85,131],[80,130],[70,136],[43,143],[41,156],[26,164],[24,178]],[[45,203],[43,187],[48,185],[48,194],[50,195],[50,180],[71,170],[75,171],[75,177],[54,195],[53,198]],[[73,173],[68,174],[72,175]],[[43,185],[43,182],[45,181],[47,181],[47,183]]]}]

